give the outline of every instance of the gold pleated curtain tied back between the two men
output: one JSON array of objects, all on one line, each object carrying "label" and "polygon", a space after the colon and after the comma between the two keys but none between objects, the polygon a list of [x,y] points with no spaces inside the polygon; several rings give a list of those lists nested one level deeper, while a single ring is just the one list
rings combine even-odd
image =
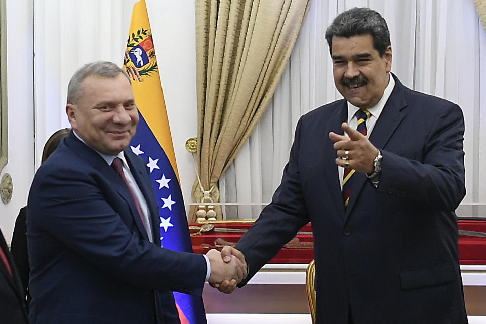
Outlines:
[{"label": "gold pleated curtain tied back between the two men", "polygon": [[[268,106],[311,1],[196,0],[200,182],[193,201],[203,191],[219,201],[218,180]],[[215,210],[221,219],[221,208]]]}]

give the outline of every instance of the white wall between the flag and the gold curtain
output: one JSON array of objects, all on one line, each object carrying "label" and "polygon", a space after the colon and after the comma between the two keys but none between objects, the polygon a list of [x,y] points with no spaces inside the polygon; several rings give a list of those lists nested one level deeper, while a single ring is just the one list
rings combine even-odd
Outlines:
[{"label": "white wall between the flag and the gold curtain", "polygon": [[182,196],[189,212],[196,173],[185,143],[197,137],[196,22],[193,0],[146,0],[164,89]]}]

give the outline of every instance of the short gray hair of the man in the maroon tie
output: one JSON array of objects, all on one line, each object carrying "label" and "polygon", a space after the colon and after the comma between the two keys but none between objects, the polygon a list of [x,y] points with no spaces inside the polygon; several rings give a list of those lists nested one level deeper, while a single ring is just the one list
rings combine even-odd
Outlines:
[{"label": "short gray hair of the man in the maroon tie", "polygon": [[86,77],[90,75],[98,75],[114,78],[120,75],[120,73],[125,75],[130,84],[132,84],[128,74],[113,62],[96,61],[83,65],[74,73],[69,81],[69,85],[67,86],[67,103],[75,104],[75,102],[79,100],[79,96],[83,92],[81,84]]}]

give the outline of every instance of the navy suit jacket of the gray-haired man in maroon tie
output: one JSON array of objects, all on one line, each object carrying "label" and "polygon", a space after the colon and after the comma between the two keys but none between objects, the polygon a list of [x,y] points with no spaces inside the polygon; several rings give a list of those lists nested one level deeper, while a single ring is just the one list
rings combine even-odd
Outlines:
[{"label": "navy suit jacket of the gray-haired man in maroon tie", "polygon": [[204,257],[160,248],[147,167],[129,149],[125,157],[153,243],[123,181],[72,132],[37,171],[27,214],[32,323],[179,323],[171,291],[201,293]]}]

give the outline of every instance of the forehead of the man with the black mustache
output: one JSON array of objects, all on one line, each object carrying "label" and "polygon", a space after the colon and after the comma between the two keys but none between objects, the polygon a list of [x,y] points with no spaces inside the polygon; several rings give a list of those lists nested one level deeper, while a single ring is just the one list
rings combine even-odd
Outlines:
[{"label": "forehead of the man with the black mustache", "polygon": [[378,53],[378,51],[373,47],[373,37],[370,34],[351,37],[333,36],[331,45],[333,56]]}]

